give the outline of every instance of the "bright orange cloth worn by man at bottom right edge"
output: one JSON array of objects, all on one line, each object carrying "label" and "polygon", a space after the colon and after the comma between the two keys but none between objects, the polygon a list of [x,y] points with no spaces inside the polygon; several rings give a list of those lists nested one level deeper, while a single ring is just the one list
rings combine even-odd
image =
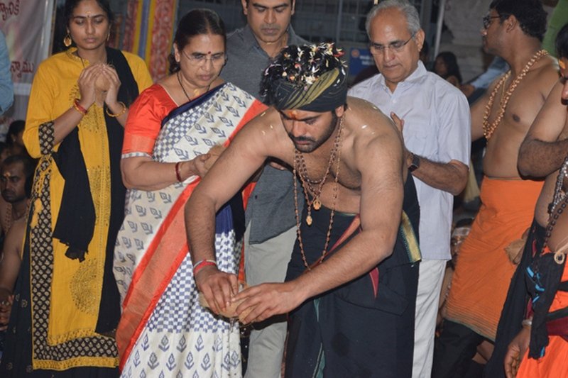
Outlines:
[{"label": "bright orange cloth worn by man at bottom right edge", "polygon": [[[568,281],[568,265],[564,265],[561,282]],[[549,312],[568,307],[568,292],[557,291]],[[545,355],[538,360],[528,357],[528,350],[520,362],[517,378],[568,377],[568,341],[562,336],[549,336]]]}]

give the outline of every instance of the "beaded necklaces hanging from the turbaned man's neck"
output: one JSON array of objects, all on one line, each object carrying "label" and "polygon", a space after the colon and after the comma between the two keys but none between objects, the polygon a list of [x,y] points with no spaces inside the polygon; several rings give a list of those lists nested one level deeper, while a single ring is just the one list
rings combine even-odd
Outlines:
[{"label": "beaded necklaces hanging from the turbaned man's neck", "polygon": [[[320,194],[322,192],[322,188],[324,183],[329,175],[329,171],[333,165],[334,160],[337,160],[335,174],[334,174],[334,187],[333,187],[333,201],[332,201],[332,211],[329,216],[329,226],[327,227],[327,235],[325,237],[325,244],[324,249],[322,251],[322,256],[317,259],[315,265],[319,265],[323,260],[324,257],[327,255],[327,247],[329,246],[329,238],[332,235],[332,226],[333,226],[333,217],[335,215],[335,204],[337,202],[337,194],[339,192],[339,165],[341,162],[341,145],[342,145],[342,130],[344,125],[344,116],[339,120],[339,130],[337,130],[337,135],[335,136],[334,146],[332,151],[329,153],[329,160],[327,162],[327,169],[325,171],[324,177],[322,177],[319,181],[319,186],[317,191],[311,186],[310,182],[307,182],[305,178],[307,178],[307,167],[305,165],[304,158],[302,156],[302,152],[298,151],[297,148],[294,148],[294,167],[293,167],[293,175],[294,175],[294,204],[295,204],[295,213],[296,213],[296,233],[297,233],[297,241],[300,245],[300,253],[302,255],[302,261],[304,262],[304,266],[307,270],[311,270],[310,264],[308,264],[306,255],[304,252],[304,244],[302,242],[302,231],[300,230],[300,211],[299,206],[297,204],[297,176],[300,177],[300,182],[302,182],[302,188],[304,189],[304,196],[306,199],[307,204],[307,217],[306,223],[307,226],[312,225],[312,216],[311,216],[311,207],[312,204],[314,205],[315,210],[319,210],[322,206],[322,203],[319,199]],[[337,159],[336,159],[337,157]],[[313,196],[313,199],[310,201],[308,196],[308,191]]]}]

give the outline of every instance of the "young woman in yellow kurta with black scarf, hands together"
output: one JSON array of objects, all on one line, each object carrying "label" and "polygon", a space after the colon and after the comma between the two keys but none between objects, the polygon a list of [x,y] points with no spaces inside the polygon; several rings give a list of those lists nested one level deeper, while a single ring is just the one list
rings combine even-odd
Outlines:
[{"label": "young woman in yellow kurta with black scarf, hands together", "polygon": [[67,0],[65,21],[70,48],[39,65],[29,98],[23,143],[40,161],[1,377],[119,374],[123,126],[152,80],[139,57],[105,45],[107,0]]}]

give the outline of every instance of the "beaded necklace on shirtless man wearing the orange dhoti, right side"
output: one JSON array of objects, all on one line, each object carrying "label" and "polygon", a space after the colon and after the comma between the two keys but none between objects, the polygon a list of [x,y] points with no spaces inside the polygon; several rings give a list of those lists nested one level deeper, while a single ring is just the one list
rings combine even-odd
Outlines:
[{"label": "beaded necklace on shirtless man wearing the orange dhoti, right side", "polygon": [[[540,51],[536,52],[535,55],[532,55],[532,57],[528,61],[527,65],[525,65],[525,67],[520,72],[520,74],[518,74],[518,76],[515,77],[515,80],[513,80],[513,82],[510,83],[505,94],[501,95],[501,101],[500,101],[501,106],[500,106],[499,111],[497,113],[497,117],[495,118],[495,120],[492,123],[489,123],[489,115],[491,113],[491,109],[493,108],[493,102],[495,102],[495,97],[496,97],[499,89],[501,89],[502,91],[505,89],[505,83],[507,82],[507,80],[510,77],[511,70],[508,70],[508,72],[506,74],[504,74],[503,77],[501,77],[501,79],[499,80],[499,82],[497,83],[497,85],[495,86],[493,91],[491,92],[491,95],[489,96],[489,101],[487,102],[487,105],[485,106],[485,115],[484,115],[483,126],[484,126],[484,136],[487,140],[489,140],[489,138],[491,138],[491,135],[493,135],[493,132],[496,130],[497,126],[499,126],[499,123],[501,123],[501,120],[503,119],[503,116],[505,115],[505,110],[507,109],[507,105],[509,104],[510,96],[513,95],[513,92],[515,91],[515,89],[517,89],[518,84],[528,74],[532,65],[534,65],[538,60],[540,60],[541,57],[544,57],[546,55],[548,55],[548,52],[546,50],[540,50]],[[503,87],[503,88],[501,88],[501,87]]]}]

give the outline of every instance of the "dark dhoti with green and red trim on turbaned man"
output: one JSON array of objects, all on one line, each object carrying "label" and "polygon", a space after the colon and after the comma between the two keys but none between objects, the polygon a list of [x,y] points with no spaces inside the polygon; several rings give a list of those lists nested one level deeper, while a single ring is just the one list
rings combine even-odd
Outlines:
[{"label": "dark dhoti with green and red trim on turbaned man", "polygon": [[[391,256],[371,272],[305,301],[290,313],[285,377],[411,377],[420,260],[420,211],[411,177],[405,184],[403,210]],[[312,211],[312,226],[302,223],[308,263],[321,257],[329,216],[330,210],[322,207]],[[358,215],[335,213],[329,241],[334,247],[327,256],[360,232],[358,221]],[[286,280],[304,271],[296,243]]]}]

